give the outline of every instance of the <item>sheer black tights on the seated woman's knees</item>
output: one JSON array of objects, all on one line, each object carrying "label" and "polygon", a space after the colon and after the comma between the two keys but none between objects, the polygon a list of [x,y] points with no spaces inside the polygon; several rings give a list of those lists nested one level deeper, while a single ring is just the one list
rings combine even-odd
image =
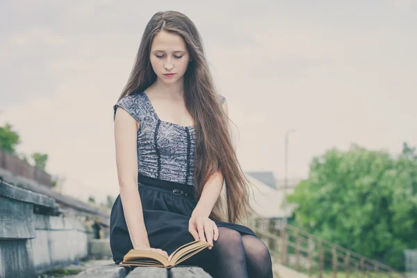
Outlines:
[{"label": "sheer black tights on the seated woman's knees", "polygon": [[219,238],[213,242],[213,249],[210,250],[218,260],[213,277],[272,277],[270,253],[259,238],[240,236],[238,231],[227,227],[218,229]]}]

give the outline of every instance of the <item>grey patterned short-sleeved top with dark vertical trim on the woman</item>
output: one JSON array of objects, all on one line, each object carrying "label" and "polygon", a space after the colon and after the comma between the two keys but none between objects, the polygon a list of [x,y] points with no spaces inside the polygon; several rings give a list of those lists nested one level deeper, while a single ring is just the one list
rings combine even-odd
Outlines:
[{"label": "grey patterned short-sleeved top with dark vertical trim on the woman", "polygon": [[[221,103],[225,97],[219,95]],[[135,91],[113,106],[123,108],[140,124],[138,129],[138,174],[194,186],[194,126],[181,126],[159,119],[145,92]]]}]

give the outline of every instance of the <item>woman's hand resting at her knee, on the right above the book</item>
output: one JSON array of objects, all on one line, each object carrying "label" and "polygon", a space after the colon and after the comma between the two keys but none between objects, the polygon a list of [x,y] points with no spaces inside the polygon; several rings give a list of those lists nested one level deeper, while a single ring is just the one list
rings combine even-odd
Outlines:
[{"label": "woman's hand resting at her knee, on the right above the book", "polygon": [[208,249],[213,248],[213,240],[218,240],[219,229],[215,222],[210,218],[202,215],[191,215],[188,222],[188,231],[195,240],[206,240],[210,245]]}]

